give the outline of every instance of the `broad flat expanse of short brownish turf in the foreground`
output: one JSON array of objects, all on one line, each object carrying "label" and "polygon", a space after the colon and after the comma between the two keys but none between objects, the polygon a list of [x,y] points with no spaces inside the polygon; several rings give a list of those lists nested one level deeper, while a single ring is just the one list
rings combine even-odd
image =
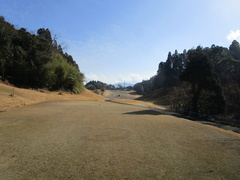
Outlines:
[{"label": "broad flat expanse of short brownish turf in the foreground", "polygon": [[240,179],[239,134],[111,102],[0,113],[0,147],[0,179]]}]

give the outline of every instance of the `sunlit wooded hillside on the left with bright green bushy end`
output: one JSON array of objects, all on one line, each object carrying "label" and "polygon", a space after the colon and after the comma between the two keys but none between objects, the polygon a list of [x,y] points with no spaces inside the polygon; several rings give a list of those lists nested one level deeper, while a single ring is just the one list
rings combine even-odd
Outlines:
[{"label": "sunlit wooded hillside on the left with bright green bushy end", "polygon": [[84,75],[49,29],[16,29],[0,16],[0,80],[18,87],[79,93]]}]

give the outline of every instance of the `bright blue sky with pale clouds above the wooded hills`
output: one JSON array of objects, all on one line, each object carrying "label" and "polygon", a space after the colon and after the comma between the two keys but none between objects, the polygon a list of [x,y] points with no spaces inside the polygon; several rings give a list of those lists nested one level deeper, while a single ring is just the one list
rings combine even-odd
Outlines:
[{"label": "bright blue sky with pale clouds above the wooded hills", "polygon": [[240,41],[240,0],[0,0],[0,15],[49,28],[86,81],[136,83],[169,51]]}]

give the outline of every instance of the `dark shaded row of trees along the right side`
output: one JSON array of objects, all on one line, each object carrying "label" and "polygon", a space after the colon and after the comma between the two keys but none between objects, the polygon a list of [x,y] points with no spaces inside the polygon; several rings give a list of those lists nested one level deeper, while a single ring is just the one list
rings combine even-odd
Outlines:
[{"label": "dark shaded row of trees along the right side", "polygon": [[[212,45],[169,52],[157,74],[134,89],[143,95],[165,92],[172,109],[183,113],[227,115],[240,119],[240,46]],[[160,93],[159,93],[160,94]]]}]

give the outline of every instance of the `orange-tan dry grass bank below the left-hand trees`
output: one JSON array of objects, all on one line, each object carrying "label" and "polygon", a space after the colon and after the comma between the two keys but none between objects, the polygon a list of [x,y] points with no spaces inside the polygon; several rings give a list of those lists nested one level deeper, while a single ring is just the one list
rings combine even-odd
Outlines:
[{"label": "orange-tan dry grass bank below the left-hand trees", "polygon": [[97,95],[87,89],[84,89],[80,94],[71,94],[67,92],[22,89],[3,83],[0,83],[0,99],[0,112],[16,107],[52,100],[105,100],[103,96]]}]

